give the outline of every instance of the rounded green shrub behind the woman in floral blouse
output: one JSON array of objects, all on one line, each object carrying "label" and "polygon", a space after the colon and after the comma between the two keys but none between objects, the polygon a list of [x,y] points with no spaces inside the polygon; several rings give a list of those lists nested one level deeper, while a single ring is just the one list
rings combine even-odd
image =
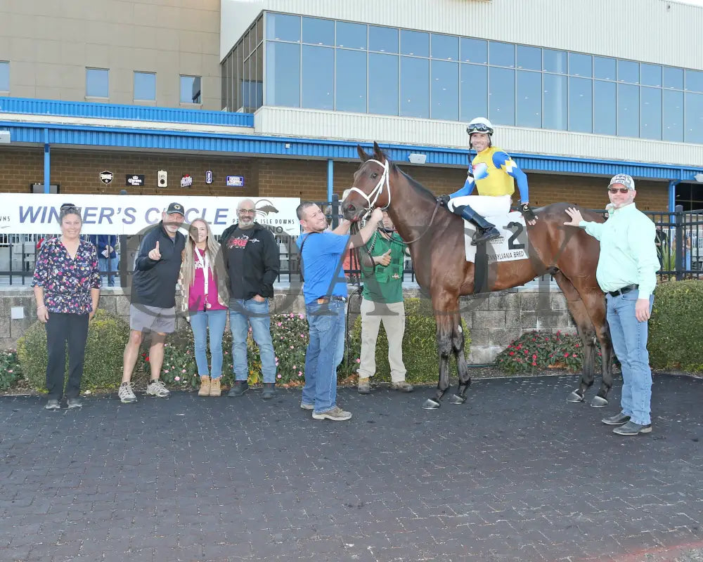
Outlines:
[{"label": "rounded green shrub behind the woman in floral blouse", "polygon": [[[82,391],[117,388],[122,380],[122,355],[129,338],[129,325],[98,308],[88,328]],[[22,373],[32,388],[46,389],[46,327],[34,322],[17,344]],[[66,353],[66,374],[68,353]]]}]

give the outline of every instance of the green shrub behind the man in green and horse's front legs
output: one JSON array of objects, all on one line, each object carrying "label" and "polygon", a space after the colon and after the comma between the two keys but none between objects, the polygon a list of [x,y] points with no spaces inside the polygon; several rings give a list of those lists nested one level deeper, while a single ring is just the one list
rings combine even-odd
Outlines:
[{"label": "green shrub behind the man in green and horse's front legs", "polygon": [[[468,355],[471,334],[462,320],[464,331],[464,354]],[[361,360],[361,316],[356,318],[352,333],[347,340],[348,358],[340,365],[342,375],[356,374]],[[451,360],[454,362],[454,360]],[[432,304],[427,299],[405,299],[405,336],[403,338],[403,362],[406,380],[411,383],[434,383],[439,374],[439,356],[437,355],[437,322],[434,320]],[[456,368],[453,367],[456,372]],[[390,381],[388,364],[388,338],[385,329],[378,331],[376,341],[375,381]]]}]

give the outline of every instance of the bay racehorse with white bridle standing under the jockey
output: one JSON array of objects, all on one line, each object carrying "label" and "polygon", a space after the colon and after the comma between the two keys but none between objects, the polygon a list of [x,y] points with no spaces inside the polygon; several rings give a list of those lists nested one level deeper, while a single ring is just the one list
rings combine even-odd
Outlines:
[{"label": "bay racehorse with white bridle standing under the jockey", "polygon": [[[449,388],[449,354],[456,357],[458,391],[450,403],[463,404],[471,384],[464,357],[464,335],[460,324],[459,296],[474,294],[475,265],[464,251],[463,219],[445,207],[423,185],[391,162],[378,143],[373,155],[357,146],[361,166],[354,174],[354,185],[342,201],[344,217],[359,221],[373,207],[382,207],[403,240],[410,247],[418,285],[430,293],[437,321],[439,381],[437,391],[423,408],[438,408]],[[591,405],[607,405],[612,386],[612,343],[606,320],[605,294],[595,280],[600,242],[581,228],[564,226],[569,220],[566,203],[536,209],[538,221],[527,226],[528,259],[494,262],[484,290],[499,291],[518,287],[535,277],[550,273],[566,296],[569,312],[583,341],[583,372],[579,388],[569,394],[569,402],[582,402],[593,384],[596,344],[602,352],[602,383]],[[603,222],[602,215],[579,209],[584,220]],[[479,250],[477,250],[477,255]]]}]

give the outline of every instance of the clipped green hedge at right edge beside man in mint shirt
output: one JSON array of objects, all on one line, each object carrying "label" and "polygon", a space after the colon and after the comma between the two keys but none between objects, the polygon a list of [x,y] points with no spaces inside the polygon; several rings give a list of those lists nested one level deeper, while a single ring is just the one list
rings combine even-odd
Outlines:
[{"label": "clipped green hedge at right edge beside man in mint shirt", "polygon": [[647,349],[657,369],[703,372],[703,281],[657,285]]}]

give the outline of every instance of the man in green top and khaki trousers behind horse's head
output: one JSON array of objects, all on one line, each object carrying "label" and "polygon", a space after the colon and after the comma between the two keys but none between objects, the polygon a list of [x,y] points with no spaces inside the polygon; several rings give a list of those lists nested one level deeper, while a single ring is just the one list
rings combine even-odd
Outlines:
[{"label": "man in green top and khaki trousers behind horse's head", "polygon": [[361,299],[361,362],[359,394],[370,393],[370,377],[376,372],[376,339],[381,322],[388,336],[388,362],[391,367],[391,388],[412,392],[405,380],[403,334],[403,263],[407,246],[396,233],[393,221],[383,211],[379,228],[359,252],[363,275]]}]

